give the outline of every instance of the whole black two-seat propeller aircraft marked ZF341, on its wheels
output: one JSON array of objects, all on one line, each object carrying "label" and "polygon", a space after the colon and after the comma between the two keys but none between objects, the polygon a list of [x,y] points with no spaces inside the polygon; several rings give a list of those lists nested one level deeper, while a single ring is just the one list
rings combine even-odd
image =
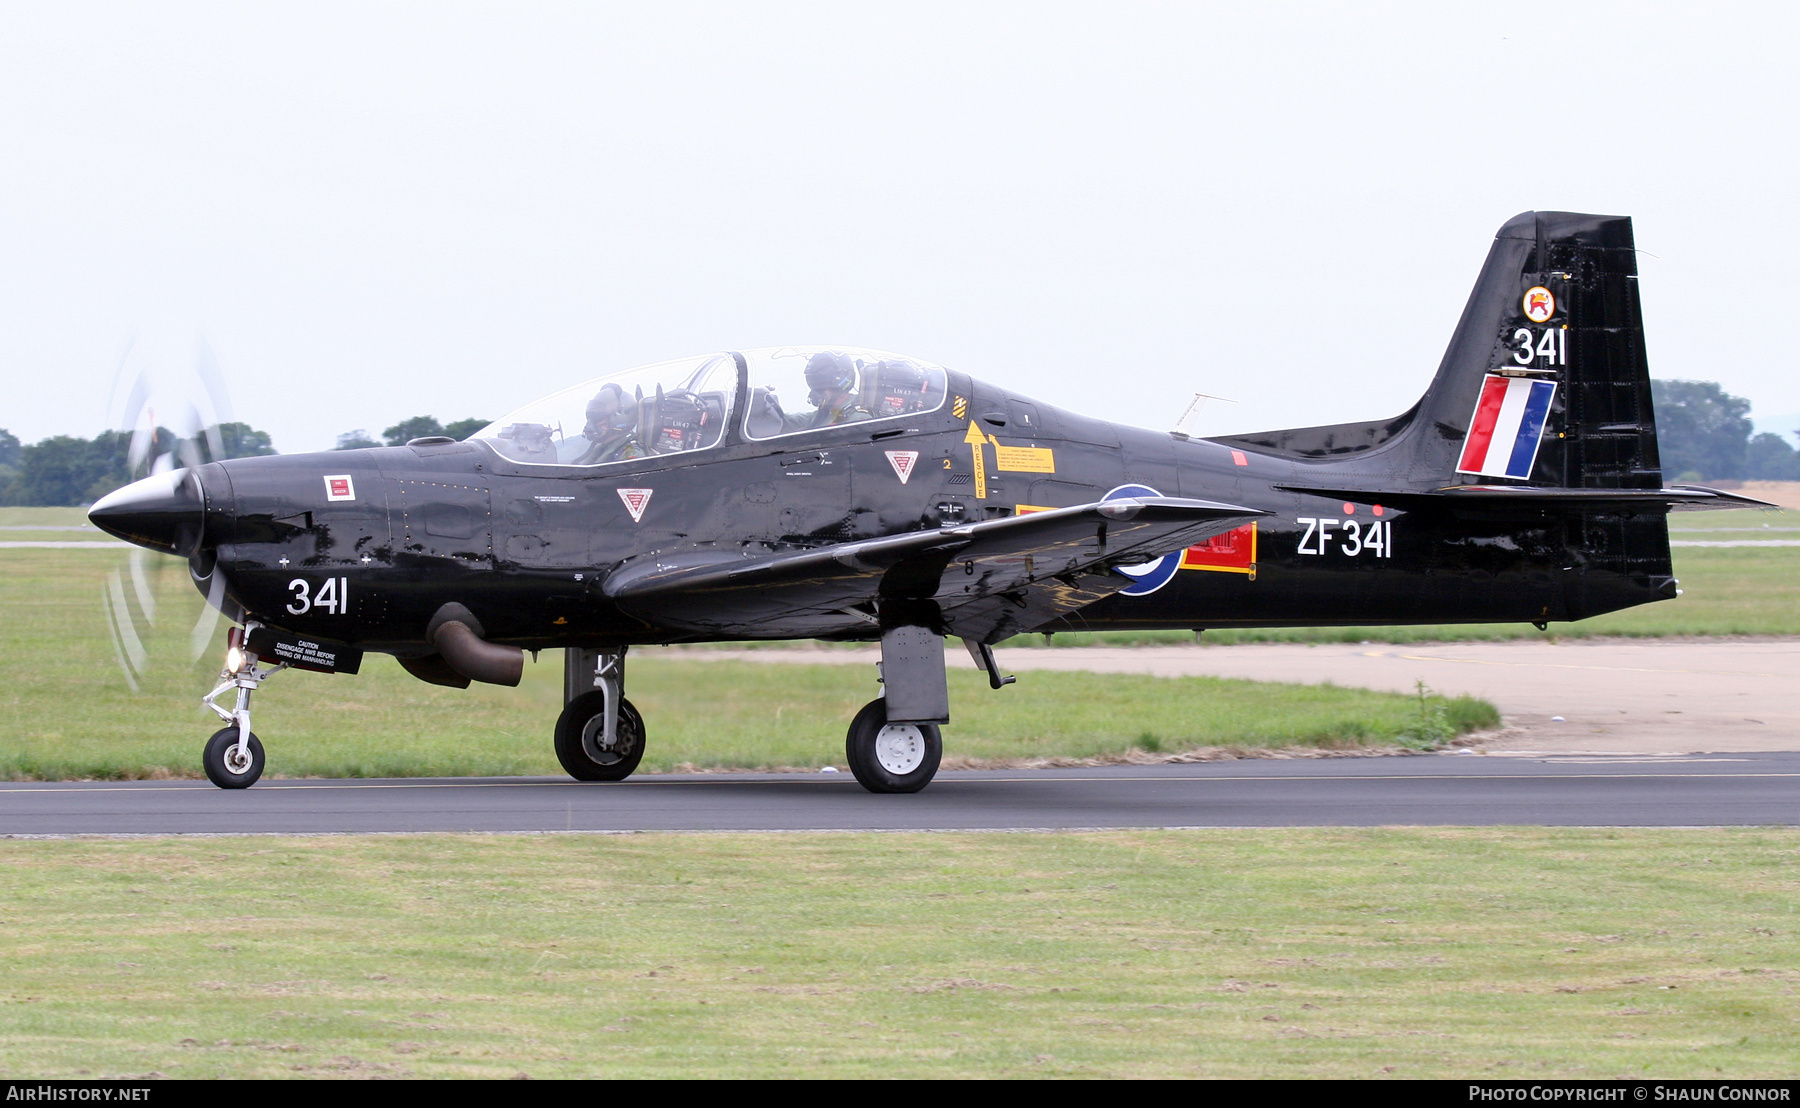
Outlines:
[{"label": "whole black two-seat propeller aircraft marked ZF341, on its wheels", "polygon": [[882,649],[851,772],[916,791],[950,716],[945,635],[999,689],[992,644],[1022,631],[1544,626],[1678,595],[1667,513],[1741,505],[1762,504],[1663,484],[1631,219],[1526,212],[1393,419],[1190,439],[916,358],[729,351],[463,442],[176,469],[90,518],[187,558],[241,624],[205,698],[223,788],[261,775],[250,694],[286,667],[383,651],[423,682],[517,685],[526,651],[563,649],[556,755],[619,781],[646,741],[630,646],[832,639]]}]

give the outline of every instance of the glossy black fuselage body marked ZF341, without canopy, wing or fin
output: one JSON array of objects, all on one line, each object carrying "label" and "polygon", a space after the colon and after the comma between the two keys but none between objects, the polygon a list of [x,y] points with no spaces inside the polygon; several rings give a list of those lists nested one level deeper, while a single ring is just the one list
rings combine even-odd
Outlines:
[{"label": "glossy black fuselage body marked ZF341, without canopy, wing or fin", "polygon": [[[470,608],[490,640],[526,649],[869,639],[875,628],[841,612],[731,635],[670,628],[621,612],[603,585],[644,559],[814,549],[1121,487],[1271,514],[1170,552],[1175,563],[1134,568],[1125,592],[1039,630],[1539,622],[1672,595],[1660,514],[1483,522],[1292,491],[1379,486],[1391,469],[1381,444],[1318,460],[1190,441],[950,372],[934,412],[774,441],[733,423],[707,450],[603,468],[524,464],[470,441],[236,459],[200,478],[236,610],[398,653],[423,648],[445,603]],[[1661,565],[1593,558],[1597,527],[1618,529],[1618,545],[1660,545]]]}]

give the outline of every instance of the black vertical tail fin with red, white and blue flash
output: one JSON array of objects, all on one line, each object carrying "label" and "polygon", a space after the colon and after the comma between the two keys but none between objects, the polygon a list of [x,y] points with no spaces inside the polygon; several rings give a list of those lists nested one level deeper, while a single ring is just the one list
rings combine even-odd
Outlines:
[{"label": "black vertical tail fin with red, white and blue flash", "polygon": [[1426,396],[1408,412],[1217,439],[1393,489],[1661,486],[1627,216],[1525,212],[1494,236]]}]

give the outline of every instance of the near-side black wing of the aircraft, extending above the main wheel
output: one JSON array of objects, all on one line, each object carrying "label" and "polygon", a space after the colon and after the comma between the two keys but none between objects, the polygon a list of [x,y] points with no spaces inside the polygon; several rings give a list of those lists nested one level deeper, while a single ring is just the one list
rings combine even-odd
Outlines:
[{"label": "near-side black wing of the aircraft, extending above the main wheel", "polygon": [[794,554],[695,550],[614,570],[603,592],[650,624],[727,637],[830,637],[880,604],[936,603],[945,631],[994,642],[1130,585],[1112,574],[1269,513],[1141,496]]}]

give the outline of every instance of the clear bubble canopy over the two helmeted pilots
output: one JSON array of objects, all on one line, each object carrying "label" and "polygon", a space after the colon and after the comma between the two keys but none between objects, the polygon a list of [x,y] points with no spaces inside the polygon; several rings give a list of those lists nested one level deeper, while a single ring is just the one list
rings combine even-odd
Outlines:
[{"label": "clear bubble canopy over the two helmeted pilots", "polygon": [[749,372],[747,439],[943,407],[943,367],[855,347],[767,347],[657,362],[571,385],[472,435],[515,462],[612,466],[718,446]]}]

